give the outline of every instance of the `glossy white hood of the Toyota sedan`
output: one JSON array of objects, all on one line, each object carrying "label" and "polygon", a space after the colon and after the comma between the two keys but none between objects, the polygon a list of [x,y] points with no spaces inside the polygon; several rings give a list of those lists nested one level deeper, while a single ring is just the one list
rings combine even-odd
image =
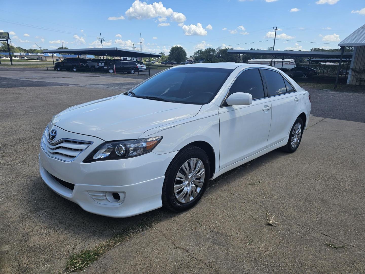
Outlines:
[{"label": "glossy white hood of the Toyota sedan", "polygon": [[195,116],[197,104],[180,104],[117,95],[70,107],[55,115],[52,124],[104,141],[137,139],[142,133]]}]

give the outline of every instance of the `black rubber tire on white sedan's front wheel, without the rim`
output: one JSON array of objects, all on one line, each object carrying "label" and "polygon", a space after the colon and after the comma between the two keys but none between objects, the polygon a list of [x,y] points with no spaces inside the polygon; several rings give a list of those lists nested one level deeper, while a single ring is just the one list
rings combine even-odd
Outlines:
[{"label": "black rubber tire on white sedan's front wheel, without the rim", "polygon": [[[201,187],[199,193],[193,198],[192,201],[187,203],[182,203],[177,200],[174,193],[174,183],[175,178],[177,176],[177,172],[180,167],[185,163],[185,161],[197,158],[201,160],[204,164],[205,168],[205,177],[203,187]],[[171,161],[169,167],[165,172],[165,180],[162,186],[162,205],[165,208],[168,208],[174,212],[181,212],[192,208],[197,202],[199,202],[200,198],[203,196],[205,189],[207,188],[207,184],[210,178],[210,163],[207,153],[203,151],[203,149],[198,148],[197,146],[188,145],[181,149],[174,159]]]}]

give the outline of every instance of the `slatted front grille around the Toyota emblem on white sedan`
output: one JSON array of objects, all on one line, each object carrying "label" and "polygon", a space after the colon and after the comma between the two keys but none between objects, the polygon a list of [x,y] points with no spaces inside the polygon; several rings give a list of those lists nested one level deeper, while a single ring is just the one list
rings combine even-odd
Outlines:
[{"label": "slatted front grille around the Toyota emblem on white sedan", "polygon": [[42,137],[41,146],[43,150],[49,156],[65,162],[71,162],[76,159],[76,157],[80,155],[82,151],[84,151],[89,145],[93,143],[68,138],[63,138],[55,143],[50,143],[47,140],[48,132],[49,129],[47,127]]}]

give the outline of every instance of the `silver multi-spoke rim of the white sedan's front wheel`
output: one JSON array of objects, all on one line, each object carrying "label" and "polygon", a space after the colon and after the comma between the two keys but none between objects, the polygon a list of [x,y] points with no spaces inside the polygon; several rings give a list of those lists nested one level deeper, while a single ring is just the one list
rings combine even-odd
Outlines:
[{"label": "silver multi-spoke rim of the white sedan's front wheel", "polygon": [[198,158],[191,158],[181,165],[174,182],[176,199],[187,203],[195,199],[203,187],[205,167]]}]

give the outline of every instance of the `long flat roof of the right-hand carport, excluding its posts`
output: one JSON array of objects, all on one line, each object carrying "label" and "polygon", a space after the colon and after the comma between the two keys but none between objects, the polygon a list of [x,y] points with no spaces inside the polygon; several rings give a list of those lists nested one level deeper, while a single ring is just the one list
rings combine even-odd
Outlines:
[{"label": "long flat roof of the right-hand carport, excluding its posts", "polygon": [[[319,58],[340,58],[341,52],[301,52],[292,50],[240,50],[229,49],[231,54],[270,55],[270,56],[293,56],[293,57],[319,57]],[[344,52],[343,57],[352,56],[352,52]]]}]

